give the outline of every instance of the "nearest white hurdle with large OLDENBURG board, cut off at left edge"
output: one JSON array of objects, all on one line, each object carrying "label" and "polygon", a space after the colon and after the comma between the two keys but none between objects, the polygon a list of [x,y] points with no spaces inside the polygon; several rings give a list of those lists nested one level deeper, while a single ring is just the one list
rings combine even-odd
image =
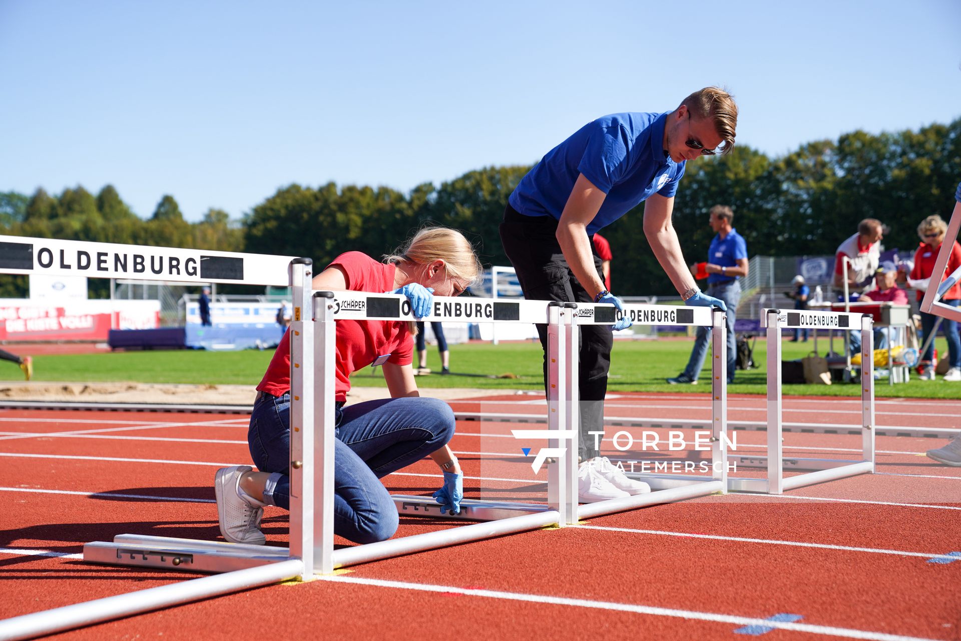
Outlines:
[{"label": "nearest white hurdle with large OLDENBURG board, cut off at left edge", "polygon": [[[305,322],[302,313],[309,309],[303,294],[309,296],[311,272],[310,259],[295,257],[0,235],[0,273],[5,274],[290,285],[295,292],[291,330],[298,333],[291,345],[292,361],[303,361],[304,348],[312,342],[312,323]],[[291,402],[292,417],[311,413],[312,372],[299,369],[301,376],[292,377],[291,384],[303,392]],[[301,486],[313,487],[313,472],[312,464],[302,467],[297,475]],[[259,585],[310,578],[312,546],[307,543],[313,536],[309,516],[313,505],[306,499],[303,494],[291,496],[289,551],[135,534],[120,534],[112,543],[87,543],[84,558],[93,562],[223,574],[12,617],[0,621],[0,638],[31,638]],[[241,551],[245,554],[238,555]]]}]

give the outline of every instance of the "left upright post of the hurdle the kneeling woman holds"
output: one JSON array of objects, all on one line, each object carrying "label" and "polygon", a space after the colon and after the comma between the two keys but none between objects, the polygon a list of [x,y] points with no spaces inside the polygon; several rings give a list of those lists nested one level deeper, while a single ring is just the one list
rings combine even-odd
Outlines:
[{"label": "left upright post of the hurdle the kneeling woman holds", "polygon": [[314,574],[333,572],[333,439],[336,387],[336,322],[331,291],[313,294],[314,319],[314,464],[313,555]]}]

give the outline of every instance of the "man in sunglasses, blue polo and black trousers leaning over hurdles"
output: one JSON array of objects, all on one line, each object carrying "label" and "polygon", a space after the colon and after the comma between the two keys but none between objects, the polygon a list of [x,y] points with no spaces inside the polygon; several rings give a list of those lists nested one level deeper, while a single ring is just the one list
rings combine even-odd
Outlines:
[{"label": "man in sunglasses, blue polo and black trousers leaning over hurdles", "polygon": [[[510,194],[501,223],[505,253],[525,297],[622,308],[604,288],[591,236],[643,202],[644,234],[686,304],[723,306],[702,294],[688,272],[671,212],[684,163],[730,151],[736,127],[734,101],[711,86],[689,95],[674,111],[605,115],[554,147]],[[621,319],[614,327],[629,325]],[[546,348],[546,326],[538,325],[537,332]],[[585,502],[650,490],[612,472],[606,459],[593,458],[598,452],[587,432],[603,430],[613,342],[610,327],[580,328],[578,449],[584,463],[592,460],[581,465],[579,495]],[[544,373],[546,380],[546,353]]]}]

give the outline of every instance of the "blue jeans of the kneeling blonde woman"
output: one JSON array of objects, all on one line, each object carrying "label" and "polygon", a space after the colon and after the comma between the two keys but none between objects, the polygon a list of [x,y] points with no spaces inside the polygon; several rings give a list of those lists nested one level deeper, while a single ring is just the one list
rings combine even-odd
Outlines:
[{"label": "blue jeans of the kneeling blonde woman", "polygon": [[[454,411],[438,399],[379,399],[338,407],[333,441],[333,531],[355,543],[388,539],[398,515],[379,481],[442,448]],[[262,396],[247,433],[259,471],[270,472],[263,500],[290,508],[290,394]]]}]

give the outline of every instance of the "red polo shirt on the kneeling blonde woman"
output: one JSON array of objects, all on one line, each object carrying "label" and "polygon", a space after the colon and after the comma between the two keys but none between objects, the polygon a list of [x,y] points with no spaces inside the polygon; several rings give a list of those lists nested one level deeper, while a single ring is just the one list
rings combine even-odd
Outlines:
[{"label": "red polo shirt on the kneeling blonde woman", "polygon": [[[385,265],[361,252],[341,254],[328,265],[339,265],[347,273],[347,288],[353,291],[382,293],[394,289],[394,265]],[[413,340],[407,321],[356,321],[341,319],[336,323],[336,389],[337,401],[347,400],[351,374],[389,354],[387,362],[407,365],[412,361]],[[281,396],[290,391],[290,332],[283,334],[267,372],[257,386],[259,391]]]}]

